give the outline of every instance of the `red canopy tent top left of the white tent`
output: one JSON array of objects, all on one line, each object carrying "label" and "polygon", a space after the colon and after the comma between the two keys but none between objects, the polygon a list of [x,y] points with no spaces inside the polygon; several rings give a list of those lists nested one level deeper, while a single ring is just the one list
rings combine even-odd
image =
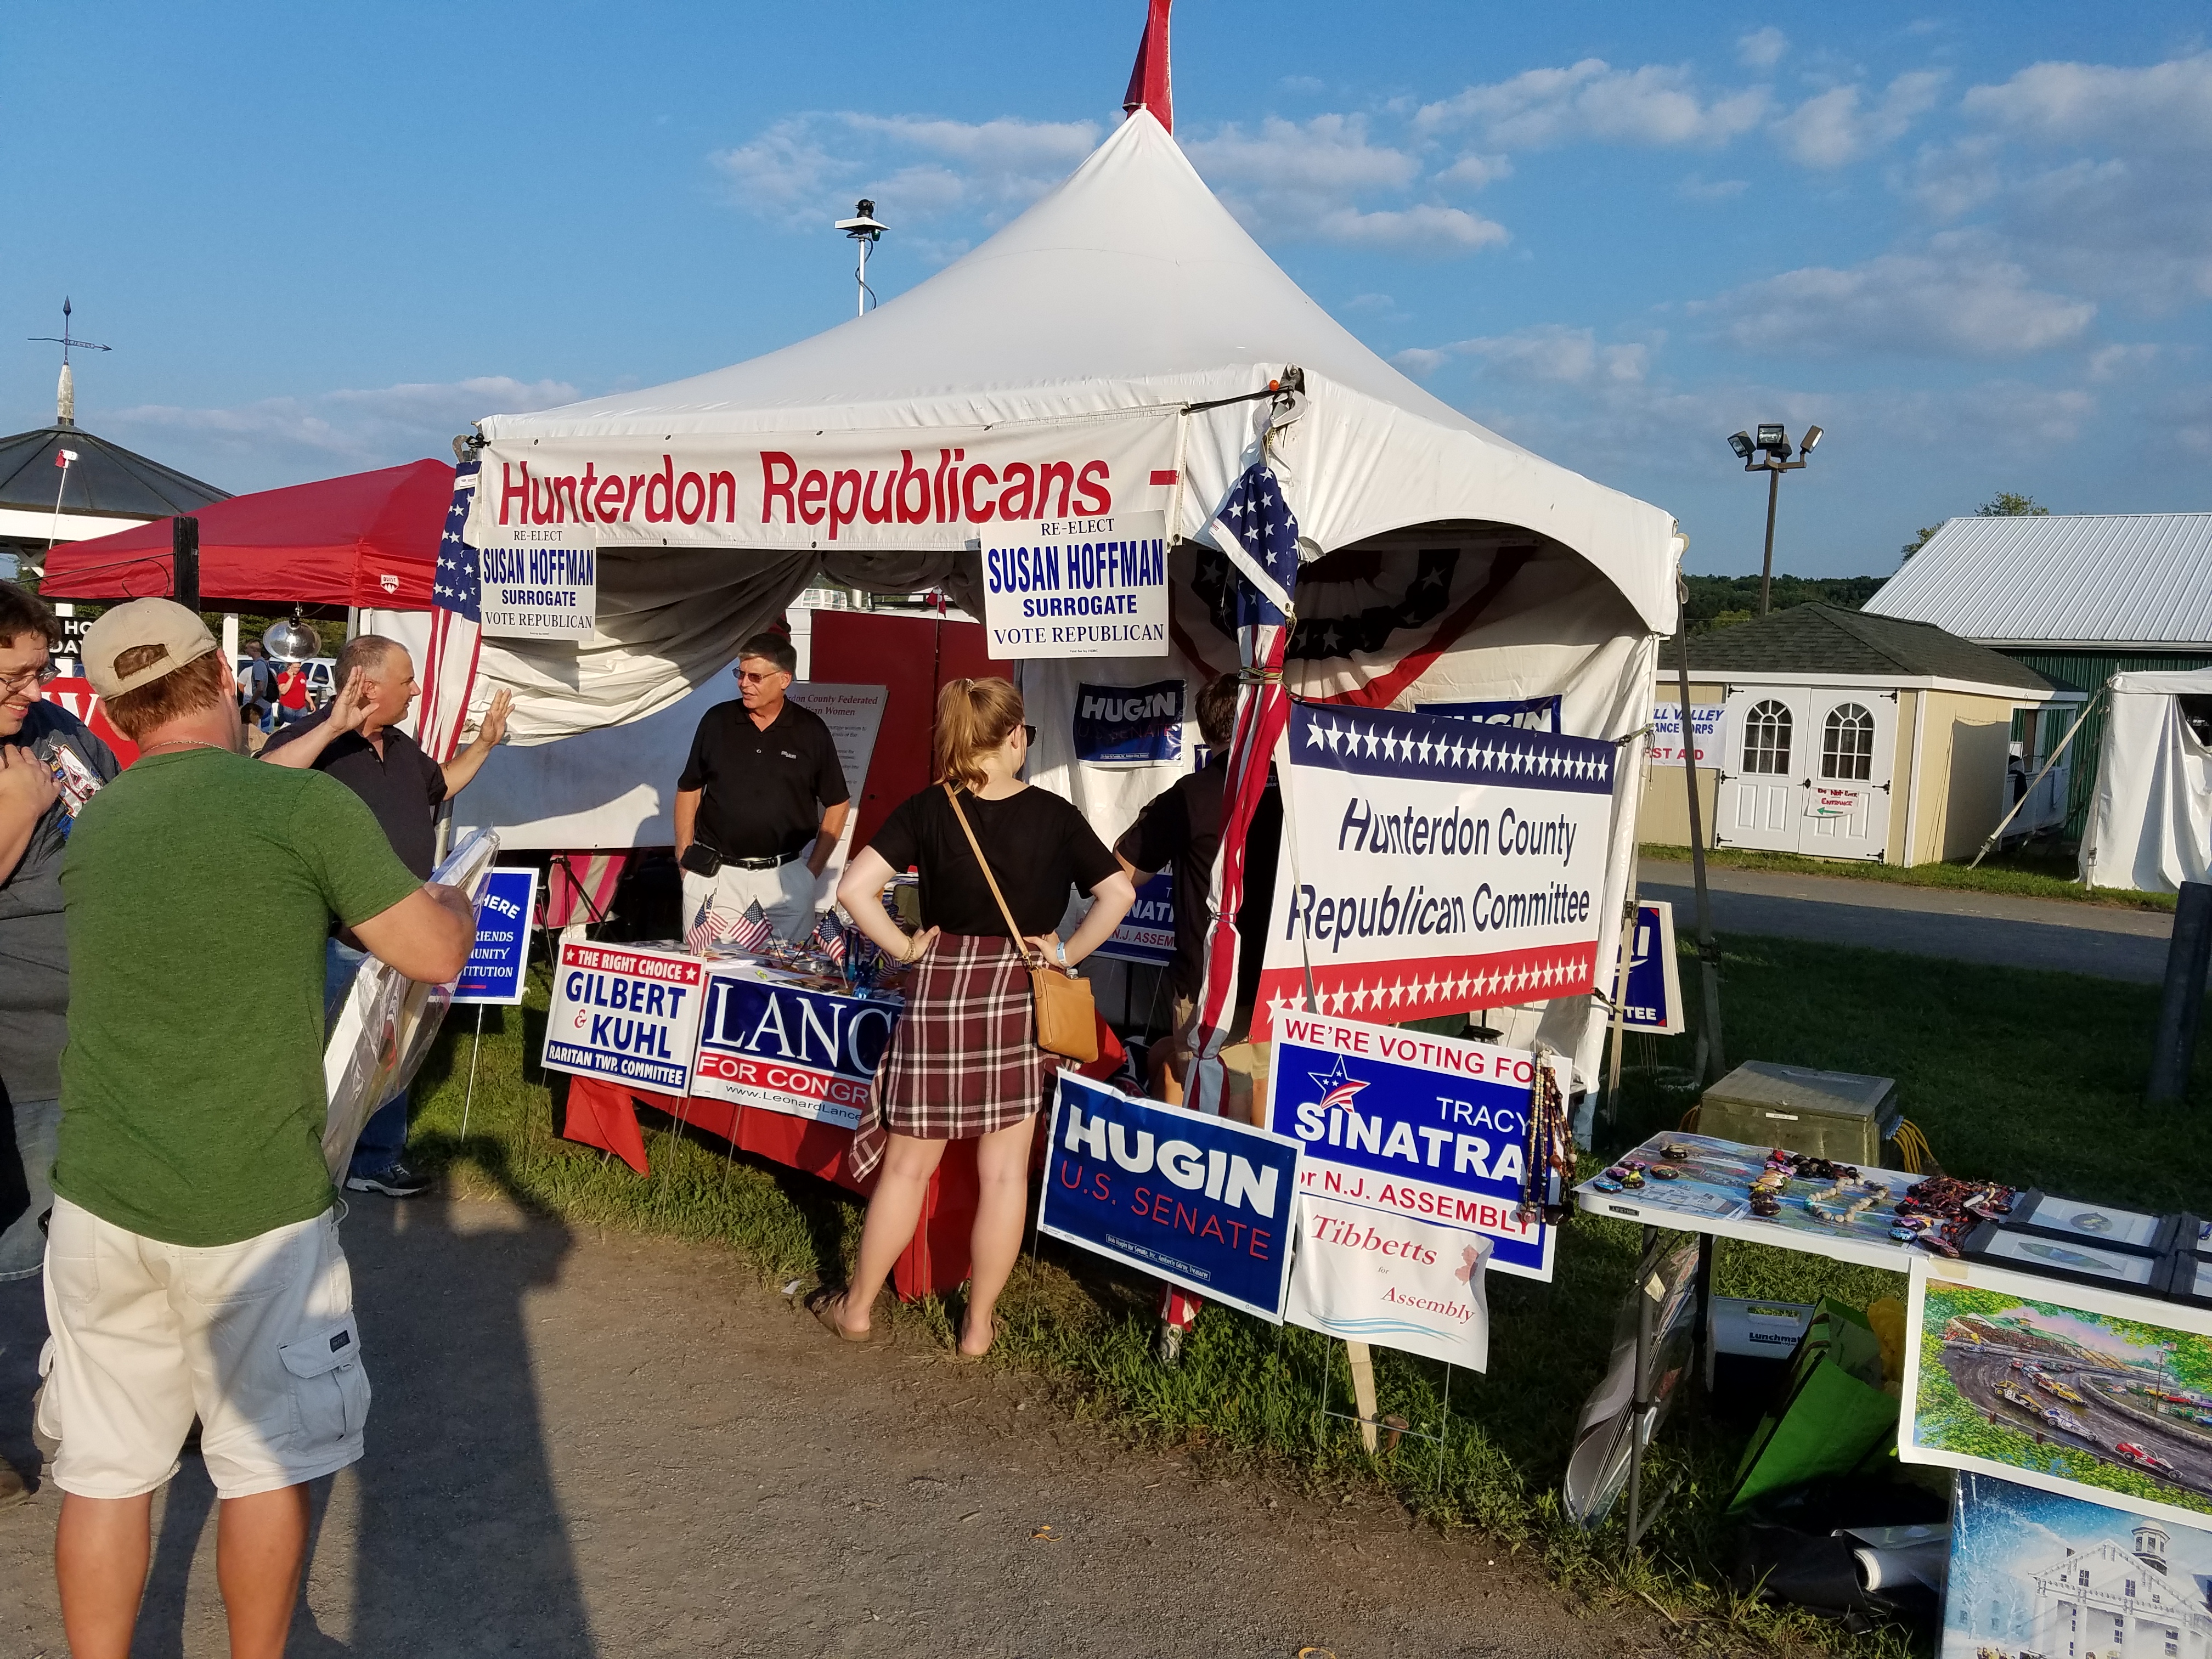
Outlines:
[{"label": "red canopy tent top left of the white tent", "polygon": [[[201,507],[199,593],[232,604],[347,604],[429,611],[453,469],[414,460],[374,473],[263,489]],[[170,593],[170,522],[53,549],[49,599],[139,599]]]}]

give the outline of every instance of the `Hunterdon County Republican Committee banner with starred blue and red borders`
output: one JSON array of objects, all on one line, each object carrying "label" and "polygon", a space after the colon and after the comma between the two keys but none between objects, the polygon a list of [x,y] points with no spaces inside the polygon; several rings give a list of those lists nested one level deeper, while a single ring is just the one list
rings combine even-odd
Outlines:
[{"label": "Hunterdon County Republican Committee banner with starred blue and red borders", "polygon": [[1590,991],[1613,743],[1296,703],[1285,759],[1254,1040]]}]

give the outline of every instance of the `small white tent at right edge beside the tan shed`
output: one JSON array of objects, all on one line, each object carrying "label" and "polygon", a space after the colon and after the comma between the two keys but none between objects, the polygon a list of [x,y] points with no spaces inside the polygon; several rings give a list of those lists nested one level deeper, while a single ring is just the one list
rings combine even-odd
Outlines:
[{"label": "small white tent at right edge beside the tan shed", "polygon": [[2172,894],[2212,880],[2212,668],[2112,675],[2081,880]]}]

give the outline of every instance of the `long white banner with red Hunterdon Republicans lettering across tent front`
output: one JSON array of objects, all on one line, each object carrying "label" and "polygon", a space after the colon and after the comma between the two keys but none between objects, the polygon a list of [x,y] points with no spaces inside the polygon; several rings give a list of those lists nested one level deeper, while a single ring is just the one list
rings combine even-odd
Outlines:
[{"label": "long white banner with red Hunterdon Republicans lettering across tent front", "polygon": [[[991,540],[1004,524],[1161,513],[1175,495],[1179,414],[1006,420],[940,429],[925,447],[885,429],[781,440],[790,449],[690,431],[493,440],[467,542],[940,549]],[[546,526],[580,533],[549,542]]]}]

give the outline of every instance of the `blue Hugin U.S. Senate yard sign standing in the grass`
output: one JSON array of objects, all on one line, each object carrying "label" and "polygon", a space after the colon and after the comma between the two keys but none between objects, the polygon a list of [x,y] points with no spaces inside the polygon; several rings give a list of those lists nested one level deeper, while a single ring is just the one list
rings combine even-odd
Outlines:
[{"label": "blue Hugin U.S. Senate yard sign standing in the grass", "polygon": [[1037,1225],[1283,1323],[1298,1141],[1060,1073]]}]

